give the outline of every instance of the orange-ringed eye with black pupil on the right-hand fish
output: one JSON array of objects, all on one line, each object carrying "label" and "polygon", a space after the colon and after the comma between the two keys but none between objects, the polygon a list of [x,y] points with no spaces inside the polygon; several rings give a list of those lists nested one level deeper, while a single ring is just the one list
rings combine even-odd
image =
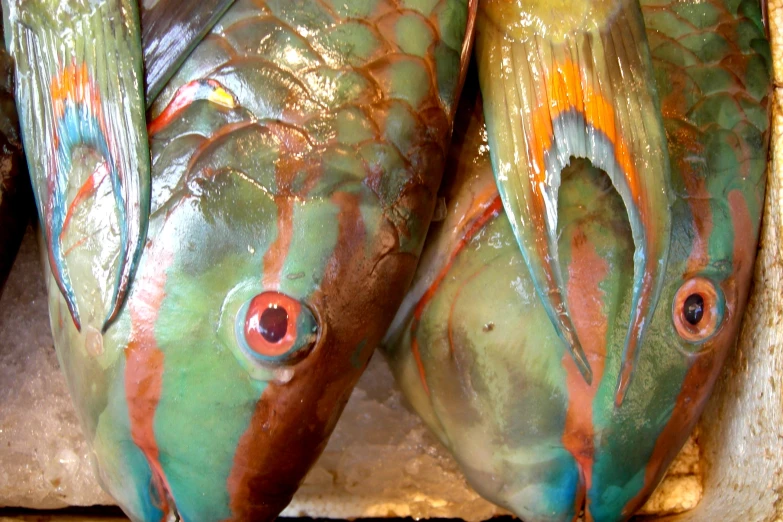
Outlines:
[{"label": "orange-ringed eye with black pupil on the right-hand fish", "polygon": [[723,322],[723,293],[709,279],[691,278],[674,297],[672,318],[683,340],[700,343],[712,337]]}]

